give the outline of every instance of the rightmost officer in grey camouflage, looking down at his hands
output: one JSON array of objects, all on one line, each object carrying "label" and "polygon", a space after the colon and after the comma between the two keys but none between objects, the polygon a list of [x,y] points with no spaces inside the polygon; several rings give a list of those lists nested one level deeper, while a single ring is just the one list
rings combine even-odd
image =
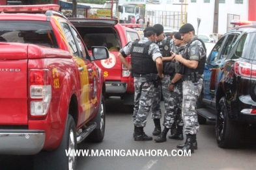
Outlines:
[{"label": "rightmost officer in grey camouflage, looking down at his hands", "polygon": [[197,146],[196,134],[199,130],[196,106],[203,86],[206,48],[205,43],[195,36],[195,29],[190,23],[182,25],[179,32],[183,40],[188,44],[183,55],[175,55],[175,60],[183,66],[182,117],[186,134],[186,142],[177,145],[177,147],[182,147],[182,150],[193,153],[194,146]]}]

